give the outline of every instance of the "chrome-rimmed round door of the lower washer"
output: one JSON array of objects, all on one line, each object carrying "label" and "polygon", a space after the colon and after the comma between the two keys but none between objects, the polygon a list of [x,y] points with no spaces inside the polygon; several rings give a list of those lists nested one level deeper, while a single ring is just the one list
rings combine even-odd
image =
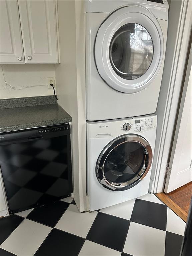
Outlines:
[{"label": "chrome-rimmed round door of the lower washer", "polygon": [[96,164],[97,179],[110,190],[129,189],[148,173],[152,158],[147,140],[138,135],[122,135],[101,152]]}]

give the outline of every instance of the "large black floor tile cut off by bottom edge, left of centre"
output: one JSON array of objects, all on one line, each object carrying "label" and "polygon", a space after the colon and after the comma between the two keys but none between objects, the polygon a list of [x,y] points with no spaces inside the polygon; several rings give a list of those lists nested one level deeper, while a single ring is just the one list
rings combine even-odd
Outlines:
[{"label": "large black floor tile cut off by bottom edge, left of centre", "polygon": [[85,239],[53,229],[34,256],[77,256]]}]

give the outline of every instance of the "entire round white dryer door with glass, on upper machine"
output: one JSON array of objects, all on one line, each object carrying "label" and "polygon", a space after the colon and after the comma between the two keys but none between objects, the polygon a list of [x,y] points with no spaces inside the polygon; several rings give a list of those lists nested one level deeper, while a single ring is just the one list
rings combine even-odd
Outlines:
[{"label": "entire round white dryer door with glass, on upper machine", "polygon": [[134,93],[156,77],[163,59],[163,34],[151,12],[127,6],[100,26],[95,41],[98,72],[113,89]]}]

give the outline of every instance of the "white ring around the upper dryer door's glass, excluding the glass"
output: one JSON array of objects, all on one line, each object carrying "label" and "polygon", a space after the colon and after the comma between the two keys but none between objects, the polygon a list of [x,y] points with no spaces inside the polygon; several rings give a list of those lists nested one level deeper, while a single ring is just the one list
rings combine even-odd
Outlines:
[{"label": "white ring around the upper dryer door's glass, excluding the glass", "polygon": [[[148,70],[139,78],[127,80],[120,77],[113,69],[109,48],[115,32],[125,24],[138,23],[150,34],[153,45],[153,59]],[[145,89],[155,79],[163,60],[164,42],[163,33],[157,19],[143,7],[129,6],[117,10],[111,14],[100,26],[95,41],[95,60],[101,77],[113,89],[134,93]]]}]

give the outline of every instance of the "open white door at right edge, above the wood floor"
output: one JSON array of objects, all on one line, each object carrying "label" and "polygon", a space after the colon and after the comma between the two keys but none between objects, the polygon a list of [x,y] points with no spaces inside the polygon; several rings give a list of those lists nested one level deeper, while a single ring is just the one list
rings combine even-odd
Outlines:
[{"label": "open white door at right edge, above the wood floor", "polygon": [[[181,100],[179,105],[179,111],[176,122],[176,129],[173,136],[173,143],[171,147],[171,153],[169,158],[169,168],[170,172],[167,174],[165,182],[165,193],[169,193],[192,180],[191,176],[191,47],[189,53],[189,59],[185,74],[185,81],[183,84],[183,90],[181,93]],[[184,128],[185,127],[185,128]],[[184,129],[183,129],[184,128]],[[189,133],[187,132],[189,131]],[[188,134],[187,137],[186,134]],[[186,140],[184,140],[186,138]],[[187,145],[185,144],[187,142]],[[189,143],[189,144],[188,144]],[[181,149],[185,148],[185,151]],[[190,148],[190,149],[189,149]],[[187,150],[189,149],[189,150]],[[178,154],[180,152],[180,154]],[[187,152],[187,155],[183,155],[184,152]],[[189,157],[189,158],[188,158]],[[181,160],[182,159],[182,160]],[[190,163],[189,163],[190,161]],[[185,162],[185,167],[189,166],[186,169],[184,168],[183,162]],[[182,166],[180,165],[182,163]],[[179,171],[180,170],[180,171]]]}]

